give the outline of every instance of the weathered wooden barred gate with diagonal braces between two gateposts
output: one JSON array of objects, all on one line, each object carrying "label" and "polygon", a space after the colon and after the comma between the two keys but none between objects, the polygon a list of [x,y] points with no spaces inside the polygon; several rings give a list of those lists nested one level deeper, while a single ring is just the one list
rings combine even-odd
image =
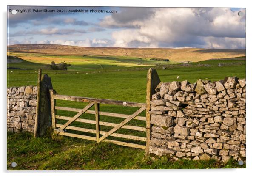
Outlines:
[{"label": "weathered wooden barred gate with diagonal braces between two gateposts", "polygon": [[[124,102],[124,101],[109,100],[109,99],[94,99],[94,98],[87,98],[87,97],[58,95],[58,94],[55,94],[53,90],[50,90],[50,95],[51,95],[51,108],[52,108],[51,109],[52,127],[54,128],[54,131],[58,135],[65,135],[65,136],[78,137],[78,138],[87,139],[87,140],[94,140],[97,143],[99,143],[101,141],[108,141],[108,142],[115,143],[117,145],[146,149],[146,147],[143,145],[106,139],[106,137],[108,137],[108,136],[113,136],[113,137],[121,137],[121,138],[133,139],[133,140],[139,140],[139,141],[146,142],[147,141],[146,137],[114,133],[120,128],[146,132],[145,127],[125,125],[132,119],[146,121],[146,117],[138,116],[140,113],[142,113],[146,109],[145,103]],[[77,109],[77,108],[71,108],[71,107],[60,107],[60,106],[55,106],[54,99],[70,100],[70,101],[78,101],[78,102],[89,102],[89,104],[86,105],[83,109]],[[134,112],[132,115],[102,112],[102,111],[99,111],[100,104],[114,104],[114,105],[122,105],[122,106],[127,106],[127,107],[139,107],[139,110]],[[95,106],[95,110],[89,110],[92,106]],[[66,116],[55,115],[55,110],[66,110],[66,111],[73,111],[73,112],[78,112],[78,113],[76,115],[74,115],[74,117],[66,117]],[[84,113],[95,114],[95,120],[79,118]],[[119,124],[104,122],[104,121],[99,121],[99,115],[125,118],[125,120]],[[65,124],[56,124],[55,119],[67,120],[67,122]],[[88,123],[88,124],[95,124],[96,130],[71,126],[71,123],[74,121]],[[99,125],[111,126],[114,128],[108,132],[105,132],[105,131],[99,130]],[[71,129],[71,130],[77,130],[77,131],[81,131],[81,132],[94,133],[94,134],[96,134],[96,137],[68,133],[68,132],[65,132],[64,129]],[[100,135],[102,135],[102,136],[100,137]]]}]

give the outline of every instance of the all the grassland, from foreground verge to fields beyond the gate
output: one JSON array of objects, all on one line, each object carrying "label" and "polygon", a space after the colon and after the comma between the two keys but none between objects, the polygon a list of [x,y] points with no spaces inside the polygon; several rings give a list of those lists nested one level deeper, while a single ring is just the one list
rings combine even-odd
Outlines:
[{"label": "all the grassland, from foreground verge to fields beyond the gate", "polygon": [[[23,68],[30,70],[7,70],[7,86],[23,86],[36,85],[38,68],[45,66],[45,63],[40,60],[42,54],[20,53],[19,57],[24,59],[26,57],[35,57],[36,63],[32,60],[26,60],[20,63],[9,63],[9,67]],[[66,60],[70,56],[54,56],[50,57],[48,61],[53,58],[60,58]],[[96,64],[80,64],[80,62],[71,62],[75,68],[69,68],[68,71],[54,71],[43,69],[43,74],[48,74],[54,89],[58,94],[86,96],[102,99],[116,99],[132,102],[145,103],[146,96],[146,76],[147,70],[139,71],[122,71],[121,65],[115,67],[120,69],[116,71],[109,69],[109,60],[112,62],[126,60],[123,64],[139,63],[139,58],[128,57],[102,57],[97,56],[97,61],[100,62],[103,68],[98,68]],[[73,56],[74,60],[91,59],[95,60],[96,56]],[[134,61],[134,60],[135,61]],[[94,61],[95,62],[95,61]],[[79,64],[75,64],[79,63]],[[96,63],[96,62],[95,62]],[[144,62],[146,63],[146,61]],[[162,65],[162,64],[161,64]],[[91,67],[92,66],[92,67]],[[127,65],[126,65],[127,66]],[[78,72],[78,67],[81,69]],[[91,68],[89,68],[91,67]],[[44,67],[43,67],[44,68]],[[142,67],[145,68],[145,67]],[[224,79],[225,76],[237,76],[245,78],[245,57],[228,59],[228,60],[205,60],[200,62],[188,64],[174,64],[157,67],[157,72],[162,82],[171,82],[188,80],[193,83],[198,79],[217,81]],[[162,69],[165,68],[165,69]],[[91,70],[91,71],[88,71]],[[101,70],[102,72],[98,72]],[[58,106],[64,107],[85,107],[85,102],[70,102],[57,101]],[[113,113],[131,114],[137,108],[117,107],[110,105],[101,105],[100,110]],[[74,116],[76,113],[69,111],[57,110],[57,115]],[[145,114],[142,114],[145,115]],[[82,115],[81,118],[94,119],[94,115]],[[100,116],[101,121],[120,123],[123,119],[109,118]],[[63,124],[65,121],[57,121]],[[145,126],[144,121],[132,120],[131,125]],[[75,122],[72,126],[86,127],[95,129],[95,125],[81,124]],[[101,130],[109,131],[111,127],[100,126]],[[70,131],[72,132],[72,131]],[[128,129],[119,129],[118,133],[138,135],[145,137],[145,132],[137,132]],[[91,135],[84,132],[78,134]],[[109,139],[114,137],[108,137]],[[117,140],[118,138],[115,138]],[[122,141],[134,142],[132,140],[118,139]],[[139,168],[245,168],[245,165],[239,166],[236,162],[228,162],[222,164],[219,162],[193,162],[181,160],[179,162],[171,162],[167,157],[159,157],[156,161],[152,161],[151,157],[145,157],[145,151],[140,149],[116,146],[111,143],[97,144],[88,140],[74,139],[71,137],[55,137],[48,135],[34,139],[31,134],[8,134],[7,136],[7,167],[9,170],[31,170],[31,169],[139,169]],[[144,142],[134,142],[138,144],[145,144]],[[11,168],[11,162],[17,162],[16,168]]]}]

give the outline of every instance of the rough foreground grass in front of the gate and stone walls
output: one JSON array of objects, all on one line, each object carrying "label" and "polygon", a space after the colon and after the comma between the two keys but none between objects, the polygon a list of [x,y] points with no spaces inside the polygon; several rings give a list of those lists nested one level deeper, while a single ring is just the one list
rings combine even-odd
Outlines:
[{"label": "rough foreground grass in front of the gate and stone walls", "polygon": [[[11,162],[16,162],[15,168]],[[224,164],[210,161],[179,160],[168,157],[145,157],[141,149],[111,143],[94,143],[63,136],[34,138],[31,134],[7,135],[8,170],[81,170],[81,169],[206,169],[245,168],[230,160]]]}]

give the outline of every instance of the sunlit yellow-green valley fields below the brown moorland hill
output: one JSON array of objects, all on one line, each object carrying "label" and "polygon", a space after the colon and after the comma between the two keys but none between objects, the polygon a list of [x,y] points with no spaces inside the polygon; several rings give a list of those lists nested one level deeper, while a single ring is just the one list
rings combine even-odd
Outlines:
[{"label": "sunlit yellow-green valley fields below the brown moorland hill", "polygon": [[[42,55],[36,53],[8,53],[10,56],[20,58],[20,63],[8,63],[8,67],[21,69],[46,68],[46,64],[65,62],[71,64],[68,71],[89,71],[94,69],[122,69],[127,67],[155,66],[175,64],[175,61],[151,61],[150,58],[130,56],[82,56],[82,55]],[[43,64],[43,65],[42,65]],[[34,65],[31,67],[31,65]]]}]

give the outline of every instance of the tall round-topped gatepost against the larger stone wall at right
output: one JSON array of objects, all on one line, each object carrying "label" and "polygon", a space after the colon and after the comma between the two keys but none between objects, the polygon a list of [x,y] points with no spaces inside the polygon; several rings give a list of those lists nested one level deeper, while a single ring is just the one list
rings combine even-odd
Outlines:
[{"label": "tall round-topped gatepost against the larger stone wall at right", "polygon": [[147,75],[147,95],[146,95],[146,135],[147,135],[147,142],[146,142],[146,155],[148,155],[148,148],[149,148],[149,140],[151,138],[151,124],[150,124],[150,101],[151,101],[151,96],[156,93],[155,88],[156,86],[160,83],[159,76],[156,72],[155,69],[150,68],[148,70],[148,75]]}]

